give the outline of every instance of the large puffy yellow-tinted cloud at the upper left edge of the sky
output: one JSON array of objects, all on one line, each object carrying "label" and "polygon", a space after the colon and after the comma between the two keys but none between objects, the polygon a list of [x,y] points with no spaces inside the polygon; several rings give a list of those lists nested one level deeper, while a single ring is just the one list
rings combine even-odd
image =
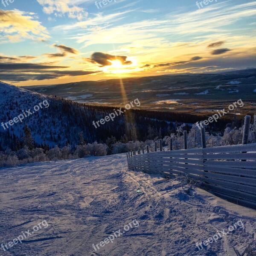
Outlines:
[{"label": "large puffy yellow-tinted cloud at the upper left edge of the sky", "polygon": [[[19,10],[0,10],[0,32],[4,35],[2,43],[16,43],[31,39],[45,41],[50,36],[41,22],[34,20],[34,13]],[[7,39],[7,40],[5,40]]]}]

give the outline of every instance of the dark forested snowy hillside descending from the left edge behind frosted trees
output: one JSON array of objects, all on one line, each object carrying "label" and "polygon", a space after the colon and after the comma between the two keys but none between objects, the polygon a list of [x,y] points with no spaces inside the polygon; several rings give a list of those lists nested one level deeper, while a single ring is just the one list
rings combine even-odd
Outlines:
[{"label": "dark forested snowy hillside descending from the left edge behind frosted trees", "polygon": [[[163,136],[169,134],[170,129],[175,129],[175,123],[168,122],[169,119],[174,122],[179,119],[191,121],[191,116],[186,116],[186,114],[181,116],[175,113],[168,115],[167,113],[148,113],[134,108],[117,116],[115,122],[105,122],[104,125],[95,128],[93,121],[113,113],[115,107],[82,105],[71,100],[45,96],[1,82],[0,95],[2,95],[0,99],[0,123],[2,123],[0,126],[0,151],[6,150],[6,148],[17,151],[19,149],[17,145],[22,147],[25,125],[28,125],[31,130],[36,147],[45,148],[45,142],[49,148],[55,145],[59,147],[71,145],[74,149],[75,145],[79,144],[80,132],[83,132],[84,140],[87,143],[95,141],[105,143],[111,136],[116,137],[117,140],[121,140],[124,135],[129,140],[133,139],[133,129],[131,121],[129,121],[133,118],[132,126],[135,122],[136,137],[139,140],[144,140],[145,131],[150,125],[154,125],[154,137],[156,137],[160,128]],[[42,104],[43,102],[45,104]],[[34,108],[38,110],[36,111]],[[25,114],[27,117],[24,116]],[[18,119],[19,116],[21,120]],[[152,119],[148,119],[148,117]],[[196,116],[193,118],[195,122],[198,120]],[[10,120],[12,125],[8,124]]]}]

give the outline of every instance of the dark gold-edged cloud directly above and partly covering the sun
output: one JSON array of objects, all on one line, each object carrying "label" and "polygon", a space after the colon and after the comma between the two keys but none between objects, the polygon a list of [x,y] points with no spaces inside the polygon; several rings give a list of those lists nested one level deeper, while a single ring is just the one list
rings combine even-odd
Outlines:
[{"label": "dark gold-edged cloud directly above and partly covering the sun", "polygon": [[128,57],[127,56],[121,56],[121,55],[110,55],[104,52],[94,52],[90,58],[87,58],[87,61],[90,61],[92,63],[98,63],[101,66],[111,66],[112,63],[110,61],[119,60],[121,61],[122,65],[129,65],[132,64],[131,61],[126,61]]}]

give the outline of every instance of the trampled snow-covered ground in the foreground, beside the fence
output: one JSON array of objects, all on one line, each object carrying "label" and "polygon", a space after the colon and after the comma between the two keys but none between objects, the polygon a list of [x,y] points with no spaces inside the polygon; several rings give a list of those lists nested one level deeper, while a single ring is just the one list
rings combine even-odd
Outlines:
[{"label": "trampled snow-covered ground in the foreground, beside the fence", "polygon": [[[0,255],[234,256],[233,247],[256,249],[255,210],[198,188],[186,193],[180,178],[128,171],[126,154],[0,169],[0,177],[0,244],[49,224]],[[138,227],[93,249],[134,220]],[[198,251],[196,242],[239,220],[244,227]]]}]

